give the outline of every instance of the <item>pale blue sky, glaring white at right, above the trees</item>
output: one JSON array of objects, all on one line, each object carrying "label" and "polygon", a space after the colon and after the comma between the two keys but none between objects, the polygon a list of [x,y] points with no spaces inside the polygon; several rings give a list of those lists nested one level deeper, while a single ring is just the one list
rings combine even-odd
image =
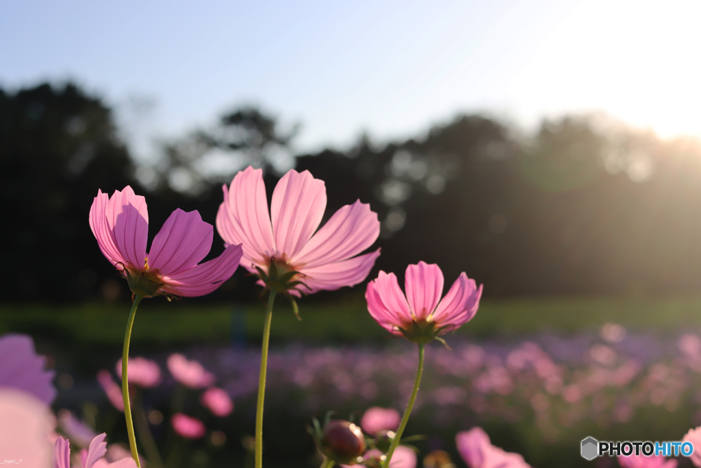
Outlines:
[{"label": "pale blue sky, glaring white at right, above the trees", "polygon": [[701,135],[701,2],[0,2],[0,87],[77,81],[154,141],[260,105],[299,151],[406,138],[459,112],[522,128],[606,112]]}]

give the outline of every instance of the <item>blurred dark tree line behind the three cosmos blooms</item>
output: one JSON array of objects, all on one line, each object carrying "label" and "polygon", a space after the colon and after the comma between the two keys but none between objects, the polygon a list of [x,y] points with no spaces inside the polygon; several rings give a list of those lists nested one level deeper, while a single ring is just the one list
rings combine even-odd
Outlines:
[{"label": "blurred dark tree line behind the three cosmos blooms", "polygon": [[[147,194],[154,227],[178,207],[213,223],[220,184],[249,163],[276,171],[294,163],[324,180],[325,220],[356,199],[371,203],[382,222],[371,276],[383,269],[402,281],[409,263],[425,260],[449,282],[467,272],[485,284],[486,297],[664,295],[701,286],[698,140],[661,140],[597,116],[544,121],[519,135],[468,115],[420,138],[363,138],[344,151],[292,158],[295,134],[260,109],[232,109],[216,126],[167,142],[161,182],[147,193],[99,97],[72,84],[0,91],[3,297],[125,299],[88,227],[97,189],[135,186]],[[266,170],[268,196],[275,170]],[[211,255],[221,251],[215,234]],[[193,303],[253,300],[253,285],[237,272]]]}]

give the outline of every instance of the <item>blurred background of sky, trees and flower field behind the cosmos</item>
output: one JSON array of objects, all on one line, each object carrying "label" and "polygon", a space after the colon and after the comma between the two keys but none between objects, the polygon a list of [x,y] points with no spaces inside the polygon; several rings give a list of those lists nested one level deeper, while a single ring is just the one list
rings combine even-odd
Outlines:
[{"label": "blurred background of sky, trees and flower field behind the cosmos", "polygon": [[[4,2],[0,332],[49,356],[56,410],[125,441],[95,380],[130,301],[88,227],[97,189],[147,196],[152,239],[175,208],[213,224],[245,166],[268,194],[308,170],[325,219],[356,199],[379,213],[370,278],[424,260],[484,283],[452,351],[428,351],[408,429],[428,436],[420,460],[442,449],[464,466],[454,434],[475,425],[537,467],[585,466],[590,435],[679,440],[701,423],[700,15],[690,1]],[[222,250],[215,233],[210,258]],[[244,273],[137,315],[133,356],[197,358],[236,405],[183,464],[245,462],[264,307]],[[364,291],[304,298],[301,322],[276,309],[270,466],[318,462],[312,415],[403,409],[414,354]],[[144,395],[158,441],[170,389]]]}]

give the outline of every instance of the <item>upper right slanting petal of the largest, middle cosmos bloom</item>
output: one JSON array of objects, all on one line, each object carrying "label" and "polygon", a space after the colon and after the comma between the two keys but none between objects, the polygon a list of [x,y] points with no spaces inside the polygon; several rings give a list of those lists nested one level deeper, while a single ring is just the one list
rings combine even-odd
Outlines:
[{"label": "upper right slanting petal of the largest, middle cosmos bloom", "polygon": [[291,262],[311,268],[346,260],[372,246],[379,234],[377,213],[358,200],[336,211]]}]

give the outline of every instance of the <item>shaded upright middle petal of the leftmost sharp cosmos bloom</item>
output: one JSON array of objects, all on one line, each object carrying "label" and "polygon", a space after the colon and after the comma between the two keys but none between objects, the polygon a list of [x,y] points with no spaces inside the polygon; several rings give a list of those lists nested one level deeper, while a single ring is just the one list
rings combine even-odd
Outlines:
[{"label": "shaded upright middle petal of the leftmost sharp cosmos bloom", "polygon": [[151,243],[149,268],[168,276],[190,269],[210,253],[214,228],[200,213],[178,208],[165,220]]}]

